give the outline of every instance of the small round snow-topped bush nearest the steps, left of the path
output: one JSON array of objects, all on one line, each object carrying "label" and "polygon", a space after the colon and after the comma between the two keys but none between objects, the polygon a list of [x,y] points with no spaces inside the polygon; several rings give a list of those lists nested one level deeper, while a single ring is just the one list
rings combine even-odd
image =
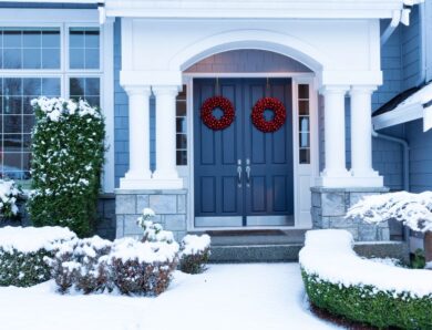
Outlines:
[{"label": "small round snow-topped bush nearest the steps, left of the path", "polygon": [[208,235],[186,235],[181,243],[179,268],[187,274],[203,272],[209,256],[210,237]]}]

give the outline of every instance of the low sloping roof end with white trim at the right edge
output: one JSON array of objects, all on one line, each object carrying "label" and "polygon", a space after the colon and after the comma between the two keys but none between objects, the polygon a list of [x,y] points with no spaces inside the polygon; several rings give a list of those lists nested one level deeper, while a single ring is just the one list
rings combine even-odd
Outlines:
[{"label": "low sloping roof end with white trim at the right edge", "polygon": [[423,118],[423,131],[432,128],[432,83],[408,90],[373,114],[373,127],[381,130]]}]

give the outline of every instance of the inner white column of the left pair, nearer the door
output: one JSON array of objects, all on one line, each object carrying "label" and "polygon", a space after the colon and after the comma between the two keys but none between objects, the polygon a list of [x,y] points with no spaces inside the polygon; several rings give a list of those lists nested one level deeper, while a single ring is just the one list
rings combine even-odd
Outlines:
[{"label": "inner white column of the left pair, nearer the door", "polygon": [[176,96],[178,86],[153,86],[156,96],[156,171],[154,184],[158,188],[183,188],[176,165]]}]

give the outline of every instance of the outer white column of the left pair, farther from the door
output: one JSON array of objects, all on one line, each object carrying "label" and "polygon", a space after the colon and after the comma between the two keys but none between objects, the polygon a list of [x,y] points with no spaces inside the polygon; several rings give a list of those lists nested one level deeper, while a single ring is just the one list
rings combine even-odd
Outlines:
[{"label": "outer white column of the left pair, farther from the door", "polygon": [[143,188],[150,171],[150,86],[125,86],[128,95],[130,167],[121,188]]}]

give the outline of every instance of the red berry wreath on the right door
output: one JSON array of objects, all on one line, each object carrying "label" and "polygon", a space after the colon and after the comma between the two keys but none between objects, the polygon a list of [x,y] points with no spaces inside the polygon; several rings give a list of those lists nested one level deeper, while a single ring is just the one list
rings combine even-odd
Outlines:
[{"label": "red berry wreath on the right door", "polygon": [[[264,112],[270,110],[275,113],[271,121],[266,121]],[[287,118],[287,111],[284,104],[275,97],[263,97],[255,103],[250,114],[251,121],[259,131],[271,133],[278,131]]]}]

